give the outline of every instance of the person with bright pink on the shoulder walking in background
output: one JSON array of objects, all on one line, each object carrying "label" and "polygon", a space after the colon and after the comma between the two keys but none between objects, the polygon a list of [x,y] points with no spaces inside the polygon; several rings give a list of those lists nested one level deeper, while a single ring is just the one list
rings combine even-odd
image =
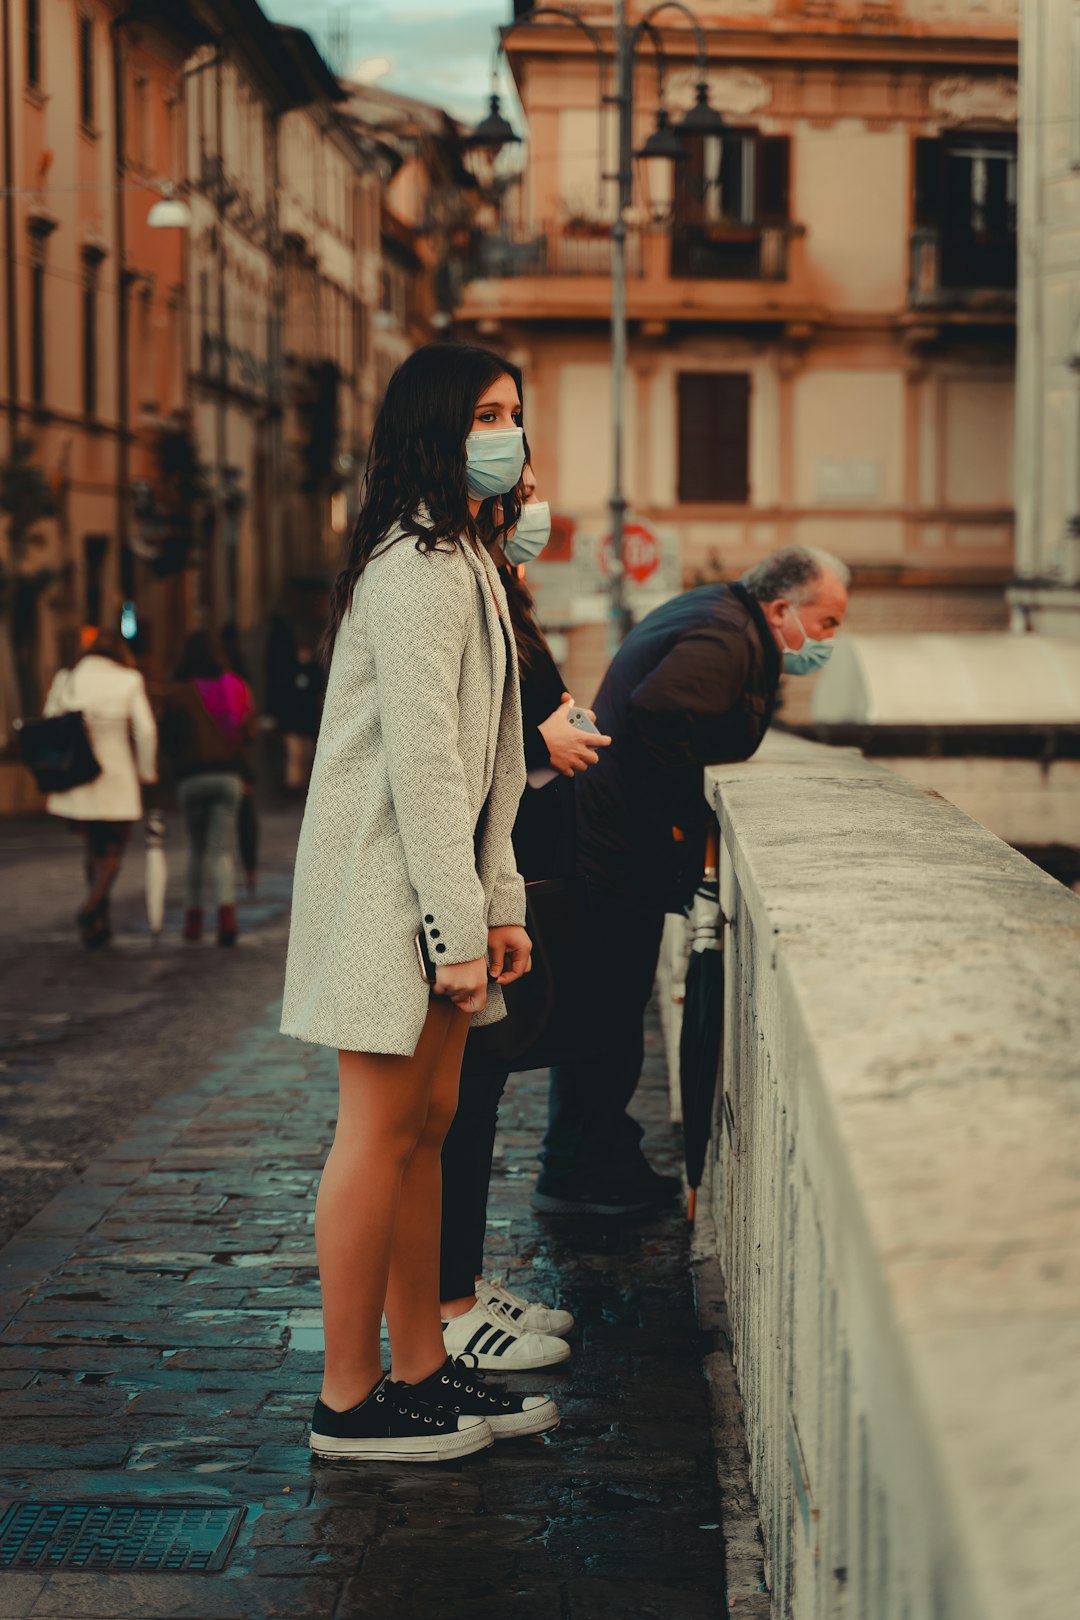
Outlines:
[{"label": "person with bright pink on the shoulder walking in background", "polygon": [[236,818],[254,732],[254,700],[246,680],[225,666],[209,630],[185,642],[175,684],[165,698],[162,742],[176,774],[176,797],[188,849],[183,936],[202,938],[206,867],[217,906],[217,943],[236,943]]}]

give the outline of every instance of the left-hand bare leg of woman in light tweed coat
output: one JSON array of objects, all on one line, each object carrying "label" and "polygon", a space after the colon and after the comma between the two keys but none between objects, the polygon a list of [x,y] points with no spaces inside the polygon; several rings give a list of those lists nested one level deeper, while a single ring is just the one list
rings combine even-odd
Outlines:
[{"label": "left-hand bare leg of woman in light tweed coat", "polygon": [[[427,1126],[447,1032],[458,1019],[466,1022],[452,1003],[432,1000],[411,1058],[338,1056],[340,1111],[316,1200],[322,1400],[335,1411],[356,1406],[382,1377],[379,1333],[405,1176]],[[437,1290],[432,1314],[437,1330]]]}]

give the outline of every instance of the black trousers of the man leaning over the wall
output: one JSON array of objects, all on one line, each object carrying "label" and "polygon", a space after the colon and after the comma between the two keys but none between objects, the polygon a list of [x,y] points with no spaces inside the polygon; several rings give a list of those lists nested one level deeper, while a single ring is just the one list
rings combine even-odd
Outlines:
[{"label": "black trousers of the man leaning over the wall", "polygon": [[541,1183],[589,1184],[633,1173],[641,1126],[627,1106],[644,1061],[644,1009],[664,933],[661,906],[641,907],[589,888],[588,982],[581,985],[575,1055],[551,1071]]}]

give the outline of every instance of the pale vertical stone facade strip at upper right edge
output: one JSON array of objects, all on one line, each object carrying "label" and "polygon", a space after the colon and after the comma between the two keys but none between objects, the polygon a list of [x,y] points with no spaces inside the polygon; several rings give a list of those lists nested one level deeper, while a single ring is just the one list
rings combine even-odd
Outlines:
[{"label": "pale vertical stone facade strip at upper right edge", "polygon": [[1080,637],[1080,3],[1020,28],[1018,629]]}]

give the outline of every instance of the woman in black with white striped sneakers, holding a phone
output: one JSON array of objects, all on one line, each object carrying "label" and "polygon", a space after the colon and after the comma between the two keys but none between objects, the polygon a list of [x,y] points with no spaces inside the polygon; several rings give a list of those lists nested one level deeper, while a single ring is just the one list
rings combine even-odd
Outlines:
[{"label": "woman in black with white striped sneakers, holding a phone", "polygon": [[[541,554],[551,535],[551,507],[536,501],[531,467],[525,468],[521,492],[517,526],[505,539],[492,530],[487,552],[499,567],[518,650],[528,776],[513,825],[513,854],[518,872],[531,883],[573,875],[573,778],[596,765],[596,750],[610,739],[570,724],[573,700],[563,690],[523,578],[525,564]],[[486,1059],[476,1038],[465,1043],[458,1111],[442,1145],[439,1286],[450,1354],[474,1356],[486,1371],[513,1372],[567,1361],[570,1346],[562,1335],[573,1327],[573,1317],[483,1278],[499,1100],[508,1077],[508,1066]]]}]

